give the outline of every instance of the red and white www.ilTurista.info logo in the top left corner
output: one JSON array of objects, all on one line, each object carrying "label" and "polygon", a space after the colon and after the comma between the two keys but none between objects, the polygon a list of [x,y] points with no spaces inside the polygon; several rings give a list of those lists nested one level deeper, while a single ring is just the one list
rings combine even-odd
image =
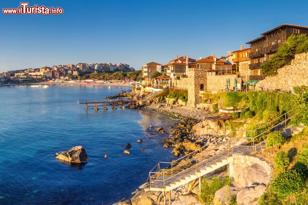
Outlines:
[{"label": "red and white www.ilTurista.info logo in the top left corner", "polygon": [[34,6],[29,6],[29,2],[20,2],[20,6],[17,9],[2,9],[3,14],[44,14],[44,15],[57,15],[63,14],[63,9],[60,7],[50,8],[45,6],[38,6],[35,4]]}]

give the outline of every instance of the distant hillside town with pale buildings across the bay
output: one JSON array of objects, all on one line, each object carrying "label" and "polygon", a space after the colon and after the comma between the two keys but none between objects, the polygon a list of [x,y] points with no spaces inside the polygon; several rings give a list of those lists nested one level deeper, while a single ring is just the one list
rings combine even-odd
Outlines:
[{"label": "distant hillside town with pale buildings across the bay", "polygon": [[0,84],[32,83],[39,81],[69,81],[87,79],[91,74],[134,72],[127,63],[77,63],[28,68],[0,73]]}]

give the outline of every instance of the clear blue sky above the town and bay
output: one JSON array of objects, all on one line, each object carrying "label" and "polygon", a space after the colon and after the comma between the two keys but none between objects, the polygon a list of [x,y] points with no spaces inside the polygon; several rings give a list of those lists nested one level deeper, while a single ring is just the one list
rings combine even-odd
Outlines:
[{"label": "clear blue sky above the town and bay", "polygon": [[140,69],[176,55],[225,56],[280,24],[308,26],[306,1],[30,0],[64,13],[2,14],[19,3],[0,0],[0,72],[78,62]]}]

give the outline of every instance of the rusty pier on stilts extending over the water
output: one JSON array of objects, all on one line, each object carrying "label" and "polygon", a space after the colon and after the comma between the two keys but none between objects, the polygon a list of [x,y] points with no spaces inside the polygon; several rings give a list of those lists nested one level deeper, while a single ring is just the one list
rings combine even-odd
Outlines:
[{"label": "rusty pier on stilts extending over the water", "polygon": [[92,107],[94,110],[99,110],[98,107],[103,107],[107,110],[107,106],[112,106],[112,109],[116,109],[116,106],[121,105],[121,108],[125,108],[126,105],[134,106],[137,103],[136,100],[129,99],[91,99],[91,100],[77,100],[77,104],[85,104],[86,112],[88,108]]}]

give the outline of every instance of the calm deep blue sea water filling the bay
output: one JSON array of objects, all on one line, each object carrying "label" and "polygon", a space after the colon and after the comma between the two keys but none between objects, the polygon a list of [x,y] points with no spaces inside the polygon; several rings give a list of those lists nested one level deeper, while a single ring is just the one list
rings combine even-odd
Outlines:
[{"label": "calm deep blue sea water filling the bay", "polygon": [[[158,161],[173,159],[161,141],[176,121],[138,109],[89,108],[86,113],[76,103],[129,89],[0,87],[0,204],[112,204],[132,197]],[[158,126],[167,133],[154,131]],[[127,156],[123,145],[128,142]],[[55,152],[76,145],[85,148],[87,164],[70,166],[55,159]]]}]

